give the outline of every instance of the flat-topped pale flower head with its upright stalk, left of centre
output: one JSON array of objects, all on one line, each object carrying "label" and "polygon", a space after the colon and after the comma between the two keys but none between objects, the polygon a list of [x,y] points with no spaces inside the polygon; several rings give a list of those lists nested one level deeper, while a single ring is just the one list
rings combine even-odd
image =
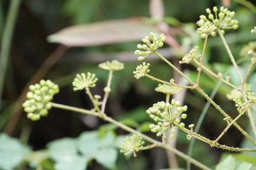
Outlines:
[{"label": "flat-topped pale flower head with its upright stalk, left of centre", "polygon": [[109,71],[108,82],[107,82],[107,86],[104,88],[105,94],[104,94],[104,98],[102,100],[102,107],[101,107],[102,114],[104,114],[108,96],[109,96],[109,93],[111,92],[110,86],[111,86],[111,80],[113,77],[113,71],[119,71],[119,70],[124,69],[124,63],[119,62],[117,60],[113,60],[111,62],[107,61],[107,62],[103,62],[103,63],[99,64],[99,68]]}]

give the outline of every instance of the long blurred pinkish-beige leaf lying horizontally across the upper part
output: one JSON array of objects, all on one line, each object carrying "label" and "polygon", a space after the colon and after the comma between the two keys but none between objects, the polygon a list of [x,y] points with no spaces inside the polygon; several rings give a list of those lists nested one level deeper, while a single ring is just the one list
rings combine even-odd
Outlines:
[{"label": "long blurred pinkish-beige leaf lying horizontally across the upper part", "polygon": [[[135,20],[108,20],[71,26],[47,37],[49,42],[67,46],[95,46],[116,42],[139,41],[151,31],[151,26]],[[159,33],[158,33],[159,34]]]}]

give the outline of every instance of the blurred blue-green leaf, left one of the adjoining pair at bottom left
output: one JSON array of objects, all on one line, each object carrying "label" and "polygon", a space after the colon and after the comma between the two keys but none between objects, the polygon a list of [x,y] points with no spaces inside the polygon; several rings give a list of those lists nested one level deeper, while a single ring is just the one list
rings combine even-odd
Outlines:
[{"label": "blurred blue-green leaf, left one of the adjoining pair at bottom left", "polygon": [[77,156],[77,141],[72,138],[55,140],[48,144],[50,157],[55,161],[69,161]]}]

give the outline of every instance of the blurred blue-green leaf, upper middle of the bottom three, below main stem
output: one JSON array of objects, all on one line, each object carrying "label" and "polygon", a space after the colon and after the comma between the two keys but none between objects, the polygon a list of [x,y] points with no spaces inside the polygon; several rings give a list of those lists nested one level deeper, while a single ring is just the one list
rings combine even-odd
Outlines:
[{"label": "blurred blue-green leaf, upper middle of the bottom three, below main stem", "polygon": [[84,156],[92,156],[99,150],[100,140],[98,139],[98,131],[81,133],[78,139],[78,147]]}]

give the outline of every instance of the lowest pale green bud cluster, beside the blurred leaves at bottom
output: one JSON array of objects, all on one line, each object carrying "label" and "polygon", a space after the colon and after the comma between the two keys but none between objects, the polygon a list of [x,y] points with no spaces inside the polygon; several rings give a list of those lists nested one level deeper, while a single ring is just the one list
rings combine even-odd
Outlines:
[{"label": "lowest pale green bud cluster, beside the blurred leaves at bottom", "polygon": [[137,156],[136,152],[143,149],[144,141],[142,141],[142,137],[134,134],[133,136],[126,137],[123,142],[121,142],[121,153],[124,155],[128,155],[129,153],[133,153],[134,157]]}]

